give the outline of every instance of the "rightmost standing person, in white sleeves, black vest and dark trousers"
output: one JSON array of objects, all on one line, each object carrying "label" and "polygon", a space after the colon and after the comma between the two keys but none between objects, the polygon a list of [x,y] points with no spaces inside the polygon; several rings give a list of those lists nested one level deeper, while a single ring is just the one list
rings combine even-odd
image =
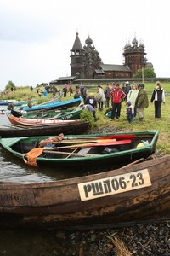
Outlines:
[{"label": "rightmost standing person, in white sleeves, black vest and dark trousers", "polygon": [[154,102],[155,118],[161,118],[161,103],[165,103],[165,92],[159,81],[156,82],[156,88],[152,93],[150,102]]}]

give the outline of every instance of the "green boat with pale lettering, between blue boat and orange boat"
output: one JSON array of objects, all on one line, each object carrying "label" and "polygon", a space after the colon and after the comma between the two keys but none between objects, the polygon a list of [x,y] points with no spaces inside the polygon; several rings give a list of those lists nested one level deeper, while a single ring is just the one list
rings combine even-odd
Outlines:
[{"label": "green boat with pale lettering, between blue boat and orange boat", "polygon": [[80,114],[82,113],[82,108],[71,108],[62,110],[48,110],[45,112],[29,112],[23,115],[25,119],[80,119]]}]

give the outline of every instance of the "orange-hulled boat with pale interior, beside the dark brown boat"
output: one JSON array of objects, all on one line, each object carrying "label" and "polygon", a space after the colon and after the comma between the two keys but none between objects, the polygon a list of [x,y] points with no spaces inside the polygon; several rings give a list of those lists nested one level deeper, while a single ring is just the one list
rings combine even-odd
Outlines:
[{"label": "orange-hulled boat with pale interior, beside the dark brown boat", "polygon": [[77,120],[61,120],[61,119],[25,119],[21,117],[15,117],[13,115],[7,115],[9,121],[13,125],[21,125],[21,126],[44,126],[44,125],[67,125],[70,123],[75,123]]}]

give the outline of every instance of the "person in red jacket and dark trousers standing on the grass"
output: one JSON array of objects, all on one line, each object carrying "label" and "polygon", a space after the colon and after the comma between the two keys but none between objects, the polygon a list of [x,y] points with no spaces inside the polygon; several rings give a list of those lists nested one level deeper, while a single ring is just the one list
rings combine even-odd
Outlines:
[{"label": "person in red jacket and dark trousers standing on the grass", "polygon": [[111,91],[111,119],[119,119],[121,115],[122,100],[126,97],[126,93],[120,88],[120,84],[116,84],[116,89]]}]

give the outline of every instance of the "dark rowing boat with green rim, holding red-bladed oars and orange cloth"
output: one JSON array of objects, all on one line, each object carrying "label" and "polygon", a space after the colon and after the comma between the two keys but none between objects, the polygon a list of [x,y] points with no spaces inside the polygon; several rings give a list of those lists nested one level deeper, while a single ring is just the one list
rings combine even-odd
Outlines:
[{"label": "dark rowing boat with green rim, holding red-bladed oars and orange cloth", "polygon": [[[67,135],[58,137],[2,138],[3,148],[32,166],[50,166],[54,170],[111,170],[156,150],[159,131]],[[35,153],[36,152],[36,153]]]}]

